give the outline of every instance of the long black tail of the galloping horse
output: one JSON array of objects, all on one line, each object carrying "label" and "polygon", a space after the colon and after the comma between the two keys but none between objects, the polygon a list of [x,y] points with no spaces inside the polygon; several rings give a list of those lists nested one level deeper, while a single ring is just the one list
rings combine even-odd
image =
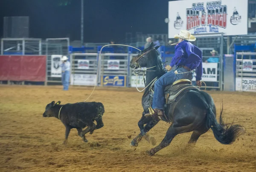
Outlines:
[{"label": "long black tail of the galloping horse", "polygon": [[214,137],[221,143],[221,144],[233,144],[236,138],[244,133],[244,127],[241,125],[233,125],[233,122],[230,124],[225,124],[222,119],[223,113],[223,102],[221,107],[221,114],[219,118],[219,123],[216,120],[215,114],[212,111],[211,103],[210,103],[210,96],[207,93],[203,93],[206,102],[207,102],[207,116],[206,116],[206,127],[211,128],[214,134]]}]

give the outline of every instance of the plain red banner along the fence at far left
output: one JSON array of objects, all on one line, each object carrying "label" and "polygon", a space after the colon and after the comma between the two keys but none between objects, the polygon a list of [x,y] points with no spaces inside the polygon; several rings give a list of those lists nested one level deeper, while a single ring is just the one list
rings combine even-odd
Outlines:
[{"label": "plain red banner along the fence at far left", "polygon": [[0,81],[44,82],[46,56],[0,56]]}]

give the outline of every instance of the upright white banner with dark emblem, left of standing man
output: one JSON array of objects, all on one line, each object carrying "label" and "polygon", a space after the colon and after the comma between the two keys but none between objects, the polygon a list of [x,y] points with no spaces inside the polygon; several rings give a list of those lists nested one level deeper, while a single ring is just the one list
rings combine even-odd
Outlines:
[{"label": "upright white banner with dark emblem, left of standing man", "polygon": [[51,77],[61,77],[62,55],[52,55]]}]

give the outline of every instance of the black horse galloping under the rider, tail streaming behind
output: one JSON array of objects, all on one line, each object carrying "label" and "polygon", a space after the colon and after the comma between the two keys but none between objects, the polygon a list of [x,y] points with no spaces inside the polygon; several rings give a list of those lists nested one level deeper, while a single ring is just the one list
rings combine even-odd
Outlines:
[{"label": "black horse galloping under the rider, tail streaming behind", "polygon": [[[141,53],[131,59],[130,62],[131,68],[148,68],[146,71],[146,85],[150,84],[156,77],[159,78],[166,73],[157,48],[159,47],[154,47],[153,43],[151,43],[150,47],[141,51]],[[142,105],[144,111],[142,118],[138,122],[140,134],[131,141],[131,146],[137,147],[138,142],[141,141],[143,137],[145,137],[147,141],[150,141],[152,145],[156,144],[154,137],[148,137],[146,133],[151,130],[159,120],[151,116],[144,116],[145,113],[148,113],[148,107],[151,106],[152,95],[150,94],[152,92],[150,89],[152,87],[147,87],[143,94]],[[194,86],[190,85],[190,87]],[[180,133],[193,131],[189,144],[195,144],[200,135],[206,133],[210,128],[215,138],[221,144],[232,144],[240,134],[244,133],[244,128],[240,125],[233,125],[233,123],[225,124],[222,120],[222,110],[223,108],[221,109],[220,123],[218,123],[216,120],[216,107],[212,97],[208,93],[199,89],[184,90],[177,96],[176,101],[166,104],[165,114],[172,124],[167,130],[166,136],[163,138],[162,142],[157,147],[147,151],[147,153],[154,155],[160,149],[168,146],[172,139]]]}]

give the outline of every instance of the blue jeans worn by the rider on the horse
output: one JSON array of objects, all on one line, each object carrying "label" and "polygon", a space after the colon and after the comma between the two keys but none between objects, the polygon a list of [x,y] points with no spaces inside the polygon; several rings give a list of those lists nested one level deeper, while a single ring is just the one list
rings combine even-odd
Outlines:
[{"label": "blue jeans worn by the rider on the horse", "polygon": [[[173,82],[179,79],[189,79],[192,81],[193,74],[184,68],[178,68],[177,72],[181,74],[175,74],[175,70],[165,73],[154,84],[154,98],[152,103],[153,109],[162,109],[164,106],[164,89],[166,86],[171,85]],[[183,73],[189,72],[189,73]]]}]

